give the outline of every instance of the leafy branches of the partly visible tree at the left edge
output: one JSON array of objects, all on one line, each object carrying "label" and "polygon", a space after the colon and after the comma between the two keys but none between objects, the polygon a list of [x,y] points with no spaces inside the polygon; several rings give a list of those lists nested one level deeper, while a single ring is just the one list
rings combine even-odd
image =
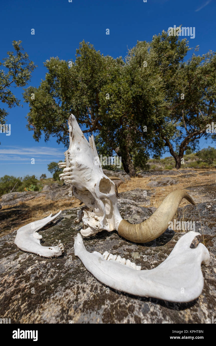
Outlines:
[{"label": "leafy branches of the partly visible tree at the left edge", "polygon": [[[31,78],[31,73],[36,66],[33,61],[28,59],[28,54],[23,52],[21,41],[13,41],[14,52],[8,52],[8,57],[3,58],[0,66],[4,66],[4,70],[0,70],[0,100],[7,103],[9,108],[20,106],[20,100],[11,92],[11,86],[25,86]],[[8,70],[8,72],[7,72]],[[5,123],[8,112],[0,109],[0,123]]]}]

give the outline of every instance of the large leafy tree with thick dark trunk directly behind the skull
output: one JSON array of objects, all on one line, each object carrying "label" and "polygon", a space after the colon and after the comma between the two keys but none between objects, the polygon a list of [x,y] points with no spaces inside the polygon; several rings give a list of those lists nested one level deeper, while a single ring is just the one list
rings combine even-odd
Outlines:
[{"label": "large leafy tree with thick dark trunk directly behind the skull", "polygon": [[[147,46],[144,48],[147,51]],[[145,167],[149,149],[159,155],[163,140],[156,140],[153,124],[161,122],[155,111],[159,106],[155,89],[160,81],[155,83],[150,73],[144,72],[141,55],[134,72],[132,55],[130,62],[121,57],[113,59],[83,41],[75,62],[58,57],[47,60],[46,79],[38,88],[29,87],[24,92],[30,107],[27,127],[34,130],[35,140],[40,140],[44,132],[45,140],[55,136],[58,143],[68,145],[67,120],[73,113],[84,133],[96,135],[99,155],[112,156],[115,152],[131,175],[137,165]],[[143,131],[144,125],[148,134]]]}]

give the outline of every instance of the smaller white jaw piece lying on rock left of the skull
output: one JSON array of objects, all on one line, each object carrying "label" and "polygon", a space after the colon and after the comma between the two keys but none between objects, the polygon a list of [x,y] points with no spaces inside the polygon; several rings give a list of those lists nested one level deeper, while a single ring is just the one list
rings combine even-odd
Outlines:
[{"label": "smaller white jaw piece lying on rock left of the skull", "polygon": [[54,220],[60,213],[61,210],[54,216],[50,214],[44,219],[31,222],[30,224],[19,228],[14,240],[16,246],[23,251],[32,252],[33,254],[37,254],[39,256],[61,256],[62,252],[64,252],[64,247],[60,240],[56,246],[42,246],[40,244],[42,235],[37,233],[39,229],[44,227],[50,221]]}]

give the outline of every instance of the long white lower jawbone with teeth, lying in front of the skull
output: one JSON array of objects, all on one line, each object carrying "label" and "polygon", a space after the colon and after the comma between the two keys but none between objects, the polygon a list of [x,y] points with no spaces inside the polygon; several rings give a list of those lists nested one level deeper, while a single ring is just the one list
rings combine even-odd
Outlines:
[{"label": "long white lower jawbone with teeth, lying in front of the skull", "polygon": [[115,290],[140,297],[189,302],[198,298],[203,289],[200,265],[209,265],[210,262],[209,252],[203,244],[190,248],[198,235],[194,231],[186,233],[166,260],[151,270],[140,270],[130,261],[127,265],[125,258],[120,257],[117,261],[119,256],[107,258],[107,252],[101,255],[96,251],[86,251],[80,234],[75,237],[74,252],[98,281]]}]

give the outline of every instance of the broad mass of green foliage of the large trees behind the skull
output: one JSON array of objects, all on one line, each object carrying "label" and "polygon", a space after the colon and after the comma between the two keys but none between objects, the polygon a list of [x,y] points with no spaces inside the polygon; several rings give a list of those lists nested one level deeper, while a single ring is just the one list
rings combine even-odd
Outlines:
[{"label": "broad mass of green foliage of the large trees behind the skull", "polygon": [[216,55],[199,56],[195,48],[187,61],[190,49],[187,39],[165,31],[151,42],[138,41],[124,59],[83,41],[75,62],[50,58],[40,86],[25,90],[27,127],[37,141],[44,133],[45,140],[55,136],[68,145],[73,113],[84,133],[96,135],[98,154],[122,157],[127,173],[147,168],[150,154],[161,156],[164,146],[180,168],[184,151],[195,151],[216,115]]}]

